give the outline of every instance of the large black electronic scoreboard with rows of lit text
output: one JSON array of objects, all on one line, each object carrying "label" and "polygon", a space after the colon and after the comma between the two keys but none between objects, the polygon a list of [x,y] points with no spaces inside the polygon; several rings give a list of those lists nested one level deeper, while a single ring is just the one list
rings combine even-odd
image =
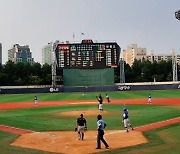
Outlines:
[{"label": "large black electronic scoreboard with rows of lit text", "polygon": [[58,44],[56,57],[59,68],[117,67],[120,47],[117,43],[93,43],[82,40],[79,44]]}]

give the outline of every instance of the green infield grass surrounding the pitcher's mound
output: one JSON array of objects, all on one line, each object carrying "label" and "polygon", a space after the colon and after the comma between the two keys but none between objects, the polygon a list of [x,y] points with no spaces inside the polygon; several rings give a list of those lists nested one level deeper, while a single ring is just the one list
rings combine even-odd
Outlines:
[{"label": "green infield grass surrounding the pitcher's mound", "polygon": [[[107,129],[123,129],[123,105],[106,104],[103,115]],[[74,130],[79,116],[59,116],[60,112],[72,110],[98,110],[97,105],[65,105],[55,107],[16,109],[0,111],[0,124],[35,131]],[[180,116],[180,106],[128,105],[133,126],[145,125]],[[96,116],[86,116],[88,129],[96,129]]]}]

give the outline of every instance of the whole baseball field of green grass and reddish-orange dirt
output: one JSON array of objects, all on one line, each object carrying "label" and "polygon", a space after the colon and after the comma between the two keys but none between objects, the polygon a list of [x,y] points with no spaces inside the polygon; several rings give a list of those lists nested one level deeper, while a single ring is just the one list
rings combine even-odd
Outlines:
[{"label": "whole baseball field of green grass and reddish-orange dirt", "polygon": [[[99,112],[96,96],[104,97]],[[110,96],[107,103],[105,94]],[[147,104],[151,93],[152,104]],[[34,96],[38,106],[34,106]],[[127,107],[135,130],[126,132]],[[88,130],[81,141],[74,132],[83,113]],[[97,115],[107,123],[110,149],[96,148]],[[0,153],[174,153],[180,151],[180,90],[0,95]]]}]

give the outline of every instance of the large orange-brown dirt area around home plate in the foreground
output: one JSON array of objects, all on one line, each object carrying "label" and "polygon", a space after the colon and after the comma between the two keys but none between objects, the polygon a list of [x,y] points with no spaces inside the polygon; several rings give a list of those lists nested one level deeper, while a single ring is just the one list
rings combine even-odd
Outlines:
[{"label": "large orange-brown dirt area around home plate in the foreground", "polygon": [[[85,132],[85,140],[82,141],[77,139],[77,133],[70,131],[35,132],[23,134],[11,145],[68,154],[105,151],[103,144],[102,149],[95,149],[96,135],[97,131],[87,131]],[[138,131],[127,133],[124,130],[106,130],[104,138],[109,144],[110,149],[108,150],[147,143],[146,138]]]}]

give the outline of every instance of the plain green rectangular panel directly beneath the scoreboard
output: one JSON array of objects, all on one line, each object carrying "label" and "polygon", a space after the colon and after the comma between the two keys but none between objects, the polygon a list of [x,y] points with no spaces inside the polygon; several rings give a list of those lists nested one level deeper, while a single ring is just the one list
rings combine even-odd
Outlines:
[{"label": "plain green rectangular panel directly beneath the scoreboard", "polygon": [[114,68],[63,69],[64,86],[114,85]]}]

